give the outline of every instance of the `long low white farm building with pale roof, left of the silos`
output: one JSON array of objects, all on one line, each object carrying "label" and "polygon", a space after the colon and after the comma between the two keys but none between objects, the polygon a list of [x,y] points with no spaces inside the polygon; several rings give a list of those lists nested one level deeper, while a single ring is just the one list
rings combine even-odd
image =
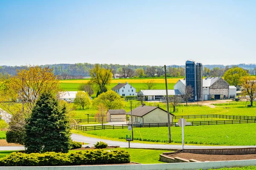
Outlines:
[{"label": "long low white farm building with pale roof, left of the silos", "polygon": [[[168,96],[174,95],[180,95],[180,91],[168,90]],[[140,90],[137,96],[142,96],[144,101],[162,101],[166,99],[166,90]]]}]

